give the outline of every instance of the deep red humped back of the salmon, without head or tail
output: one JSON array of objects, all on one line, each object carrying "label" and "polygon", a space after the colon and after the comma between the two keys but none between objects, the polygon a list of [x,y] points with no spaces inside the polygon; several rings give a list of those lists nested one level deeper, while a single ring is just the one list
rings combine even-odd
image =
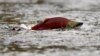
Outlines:
[{"label": "deep red humped back of the salmon, without head or tail", "polygon": [[69,20],[63,17],[46,18],[43,22],[33,26],[32,30],[47,30],[55,28],[65,28]]}]

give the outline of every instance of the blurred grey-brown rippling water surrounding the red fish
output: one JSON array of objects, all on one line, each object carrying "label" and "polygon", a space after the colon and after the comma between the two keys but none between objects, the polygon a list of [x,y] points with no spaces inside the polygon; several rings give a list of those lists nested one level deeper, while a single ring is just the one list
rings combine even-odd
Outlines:
[{"label": "blurred grey-brown rippling water surrounding the red fish", "polygon": [[[100,0],[0,0],[0,56],[100,56],[99,5]],[[56,16],[84,25],[65,31],[7,29],[8,19],[31,22]]]}]

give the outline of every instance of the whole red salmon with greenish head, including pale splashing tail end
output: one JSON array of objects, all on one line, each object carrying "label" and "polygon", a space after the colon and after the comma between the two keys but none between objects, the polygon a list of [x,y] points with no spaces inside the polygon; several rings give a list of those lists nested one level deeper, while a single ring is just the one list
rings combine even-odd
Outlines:
[{"label": "whole red salmon with greenish head, including pale splashing tail end", "polygon": [[[28,30],[48,30],[48,29],[57,29],[57,28],[69,28],[73,29],[75,27],[82,26],[82,22],[75,22],[71,21],[67,18],[63,17],[53,17],[53,18],[46,18],[43,22],[40,22],[38,24],[32,24],[26,26],[25,24],[21,24],[19,27],[22,29],[28,29]],[[20,28],[12,28],[12,30],[20,31]]]}]

